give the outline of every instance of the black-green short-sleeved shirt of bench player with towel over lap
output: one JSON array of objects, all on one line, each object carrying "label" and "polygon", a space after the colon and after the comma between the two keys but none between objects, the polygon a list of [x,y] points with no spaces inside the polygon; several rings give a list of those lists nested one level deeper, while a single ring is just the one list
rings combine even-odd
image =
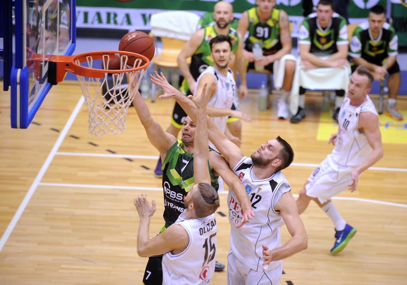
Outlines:
[{"label": "black-green short-sleeved shirt of bench player with towel over lap", "polygon": [[327,27],[322,28],[316,13],[310,14],[300,26],[299,44],[311,45],[310,52],[316,56],[330,56],[339,45],[347,45],[347,25],[342,16],[334,13]]}]

